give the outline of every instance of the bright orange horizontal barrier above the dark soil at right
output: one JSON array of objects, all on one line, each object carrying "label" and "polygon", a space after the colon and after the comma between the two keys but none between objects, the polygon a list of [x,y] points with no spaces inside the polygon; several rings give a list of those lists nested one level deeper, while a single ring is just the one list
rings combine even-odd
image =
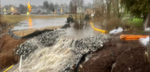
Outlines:
[{"label": "bright orange horizontal barrier above the dark soil at right", "polygon": [[146,38],[149,35],[121,35],[121,40],[139,40],[140,38]]}]

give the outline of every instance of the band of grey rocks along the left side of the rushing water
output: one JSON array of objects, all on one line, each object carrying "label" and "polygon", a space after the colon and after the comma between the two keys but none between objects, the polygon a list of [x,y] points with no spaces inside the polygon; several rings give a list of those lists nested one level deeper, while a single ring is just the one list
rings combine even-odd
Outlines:
[{"label": "band of grey rocks along the left side of the rushing water", "polygon": [[52,46],[56,43],[56,40],[59,36],[63,34],[63,31],[50,31],[45,32],[42,35],[39,35],[33,39],[26,41],[17,47],[16,54],[22,55],[23,59],[25,59],[29,54],[34,52],[37,48],[41,48],[41,46]]}]

